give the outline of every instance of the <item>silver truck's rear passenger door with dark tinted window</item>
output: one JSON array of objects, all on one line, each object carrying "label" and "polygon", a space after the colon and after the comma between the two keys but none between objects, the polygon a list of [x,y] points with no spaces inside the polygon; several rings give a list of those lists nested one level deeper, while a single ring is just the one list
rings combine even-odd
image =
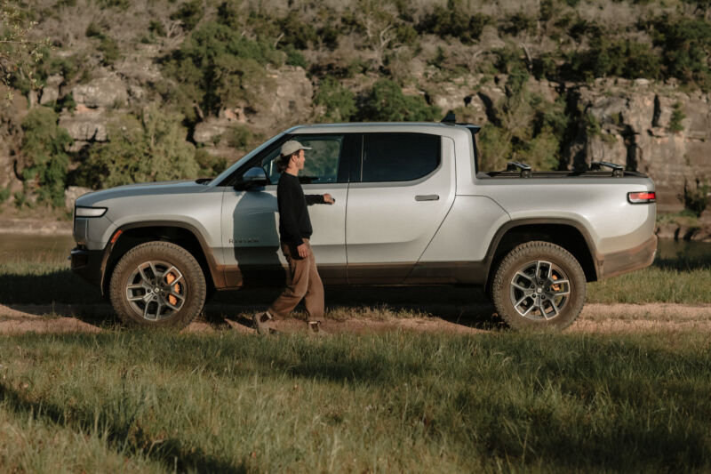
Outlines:
[{"label": "silver truck's rear passenger door with dark tinted window", "polygon": [[399,284],[454,202],[450,139],[365,133],[348,186],[348,283]]}]

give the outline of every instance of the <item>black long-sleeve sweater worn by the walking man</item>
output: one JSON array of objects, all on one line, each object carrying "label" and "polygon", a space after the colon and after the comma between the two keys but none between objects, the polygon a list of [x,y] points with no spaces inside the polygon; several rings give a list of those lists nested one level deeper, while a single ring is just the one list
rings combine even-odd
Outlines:
[{"label": "black long-sleeve sweater worn by the walking man", "polygon": [[276,203],[279,206],[279,239],[292,248],[310,238],[314,229],[308,217],[307,205],[324,204],[324,195],[304,195],[299,177],[282,173],[276,186]]}]

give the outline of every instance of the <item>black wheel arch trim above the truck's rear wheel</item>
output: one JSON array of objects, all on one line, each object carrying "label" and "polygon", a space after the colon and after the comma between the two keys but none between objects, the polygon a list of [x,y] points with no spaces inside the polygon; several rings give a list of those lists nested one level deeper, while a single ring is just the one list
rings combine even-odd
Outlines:
[{"label": "black wheel arch trim above the truck's rear wheel", "polygon": [[489,261],[486,288],[489,289],[492,277],[499,262],[516,245],[533,240],[542,240],[560,245],[570,252],[585,272],[588,282],[597,280],[598,266],[595,245],[587,229],[579,222],[568,220],[531,219],[508,221],[494,235],[487,252]]}]

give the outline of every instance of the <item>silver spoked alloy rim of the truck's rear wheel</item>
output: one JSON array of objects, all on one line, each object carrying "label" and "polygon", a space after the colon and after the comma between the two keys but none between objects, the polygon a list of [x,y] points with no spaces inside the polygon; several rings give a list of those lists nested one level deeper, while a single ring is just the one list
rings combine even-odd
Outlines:
[{"label": "silver spoked alloy rim of the truck's rear wheel", "polygon": [[541,321],[561,314],[571,299],[571,280],[550,261],[529,261],[511,278],[509,298],[516,312]]}]

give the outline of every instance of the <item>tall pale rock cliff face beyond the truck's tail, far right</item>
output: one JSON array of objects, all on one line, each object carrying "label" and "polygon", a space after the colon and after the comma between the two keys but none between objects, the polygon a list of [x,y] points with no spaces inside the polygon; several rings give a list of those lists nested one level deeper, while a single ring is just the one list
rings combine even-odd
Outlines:
[{"label": "tall pale rock cliff face beyond the truck's tail, far right", "polygon": [[711,109],[708,95],[681,92],[649,81],[598,81],[571,88],[578,107],[594,116],[600,132],[571,143],[568,165],[605,160],[649,174],[658,209],[683,209],[684,183],[711,179]]}]

